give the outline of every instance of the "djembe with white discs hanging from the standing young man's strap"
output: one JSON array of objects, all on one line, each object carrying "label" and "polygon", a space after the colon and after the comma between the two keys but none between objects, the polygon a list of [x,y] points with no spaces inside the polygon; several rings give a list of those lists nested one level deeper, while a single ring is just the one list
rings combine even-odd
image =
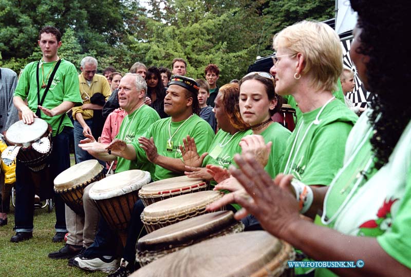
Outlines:
[{"label": "djembe with white discs hanging from the standing young man's strap", "polygon": [[32,171],[44,169],[52,151],[51,136],[51,126],[41,118],[35,117],[30,125],[17,121],[6,132],[10,146],[2,153],[3,162],[8,165],[17,157]]}]

